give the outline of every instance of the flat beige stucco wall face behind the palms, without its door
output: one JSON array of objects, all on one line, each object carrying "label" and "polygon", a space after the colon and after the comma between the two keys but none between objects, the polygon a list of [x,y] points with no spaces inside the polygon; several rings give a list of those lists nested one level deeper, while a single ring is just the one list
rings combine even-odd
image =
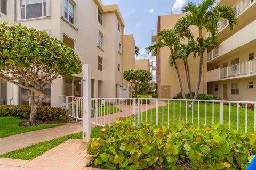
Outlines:
[{"label": "flat beige stucco wall face behind the palms, without its door", "polygon": [[[185,14],[174,14],[174,15],[161,16],[161,30],[173,28],[175,23],[184,15]],[[195,28],[191,28],[191,29],[193,31],[194,36],[196,37],[198,34],[198,31]],[[171,98],[173,98],[175,95],[181,92],[178,75],[174,67],[172,67],[169,63],[169,56],[170,56],[170,49],[162,48],[160,52],[161,62],[160,62],[160,67],[158,68],[158,71],[161,72],[161,83],[157,84],[158,86],[160,86],[158,90],[159,97],[161,97],[161,86],[171,86],[171,94],[170,94]],[[204,58],[206,58],[206,56]],[[189,56],[188,63],[189,63],[189,69],[190,69],[192,89],[193,91],[195,91],[197,75],[198,75],[199,59],[198,58],[195,59],[193,58],[193,56]],[[177,64],[179,67],[183,88],[185,89],[185,92],[188,93],[188,85],[187,85],[185,69],[183,66],[183,61],[177,60]],[[203,70],[205,70],[205,64],[203,65]],[[201,88],[199,92],[200,93],[205,92],[206,91],[205,87],[206,85],[204,83],[204,71],[203,71]]]}]

